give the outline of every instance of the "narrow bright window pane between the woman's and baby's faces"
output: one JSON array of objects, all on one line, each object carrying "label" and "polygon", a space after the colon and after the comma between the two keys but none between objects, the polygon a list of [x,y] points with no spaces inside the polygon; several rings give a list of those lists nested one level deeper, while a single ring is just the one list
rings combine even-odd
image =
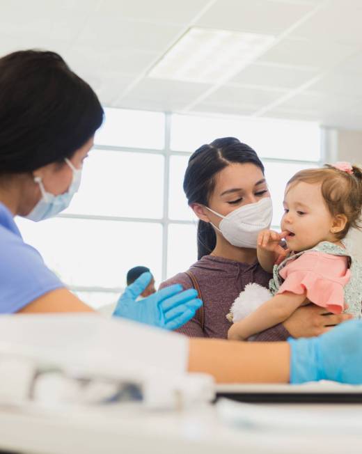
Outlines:
[{"label": "narrow bright window pane between the woman's and baby's faces", "polygon": [[265,176],[273,199],[273,226],[280,226],[283,216],[284,190],[294,173],[310,169],[310,164],[291,164],[283,162],[265,162]]}]

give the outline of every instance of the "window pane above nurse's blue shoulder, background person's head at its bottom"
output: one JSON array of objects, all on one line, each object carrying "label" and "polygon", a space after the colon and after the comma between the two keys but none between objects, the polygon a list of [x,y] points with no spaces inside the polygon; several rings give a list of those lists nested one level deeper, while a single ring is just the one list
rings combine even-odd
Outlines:
[{"label": "window pane above nurse's blue shoulder, background person's head at its bottom", "polygon": [[53,218],[18,218],[24,241],[68,285],[123,287],[129,268],[144,265],[161,279],[162,225]]}]

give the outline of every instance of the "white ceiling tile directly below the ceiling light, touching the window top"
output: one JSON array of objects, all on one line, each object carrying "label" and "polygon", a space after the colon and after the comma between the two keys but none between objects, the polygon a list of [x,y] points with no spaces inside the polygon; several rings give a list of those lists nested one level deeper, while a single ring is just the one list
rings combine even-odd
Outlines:
[{"label": "white ceiling tile directly below the ceiling light, touching the window top", "polygon": [[166,110],[175,106],[177,106],[177,109],[181,109],[194,101],[208,88],[210,88],[210,85],[207,84],[192,84],[190,82],[145,77],[119,102],[122,105],[127,102],[149,102],[150,106],[159,105]]}]

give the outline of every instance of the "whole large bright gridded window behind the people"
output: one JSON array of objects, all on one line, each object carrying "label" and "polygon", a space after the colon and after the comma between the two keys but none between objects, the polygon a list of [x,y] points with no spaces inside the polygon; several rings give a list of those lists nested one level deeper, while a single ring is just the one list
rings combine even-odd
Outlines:
[{"label": "whole large bright gridded window behind the people", "polygon": [[17,219],[24,240],[95,308],[118,298],[131,267],[150,267],[159,284],[196,262],[197,218],[182,181],[191,152],[203,143],[236,136],[258,152],[275,226],[283,214],[285,182],[322,159],[314,123],[105,111],[68,210],[38,224]]}]

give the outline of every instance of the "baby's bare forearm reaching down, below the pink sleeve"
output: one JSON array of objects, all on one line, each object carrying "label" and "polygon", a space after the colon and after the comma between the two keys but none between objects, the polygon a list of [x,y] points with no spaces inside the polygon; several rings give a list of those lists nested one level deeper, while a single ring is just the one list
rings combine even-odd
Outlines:
[{"label": "baby's bare forearm reaching down, below the pink sleeve", "polygon": [[234,323],[228,331],[228,339],[245,340],[253,334],[284,322],[305,300],[305,293],[296,295],[292,292],[283,292],[275,295],[246,318]]}]

